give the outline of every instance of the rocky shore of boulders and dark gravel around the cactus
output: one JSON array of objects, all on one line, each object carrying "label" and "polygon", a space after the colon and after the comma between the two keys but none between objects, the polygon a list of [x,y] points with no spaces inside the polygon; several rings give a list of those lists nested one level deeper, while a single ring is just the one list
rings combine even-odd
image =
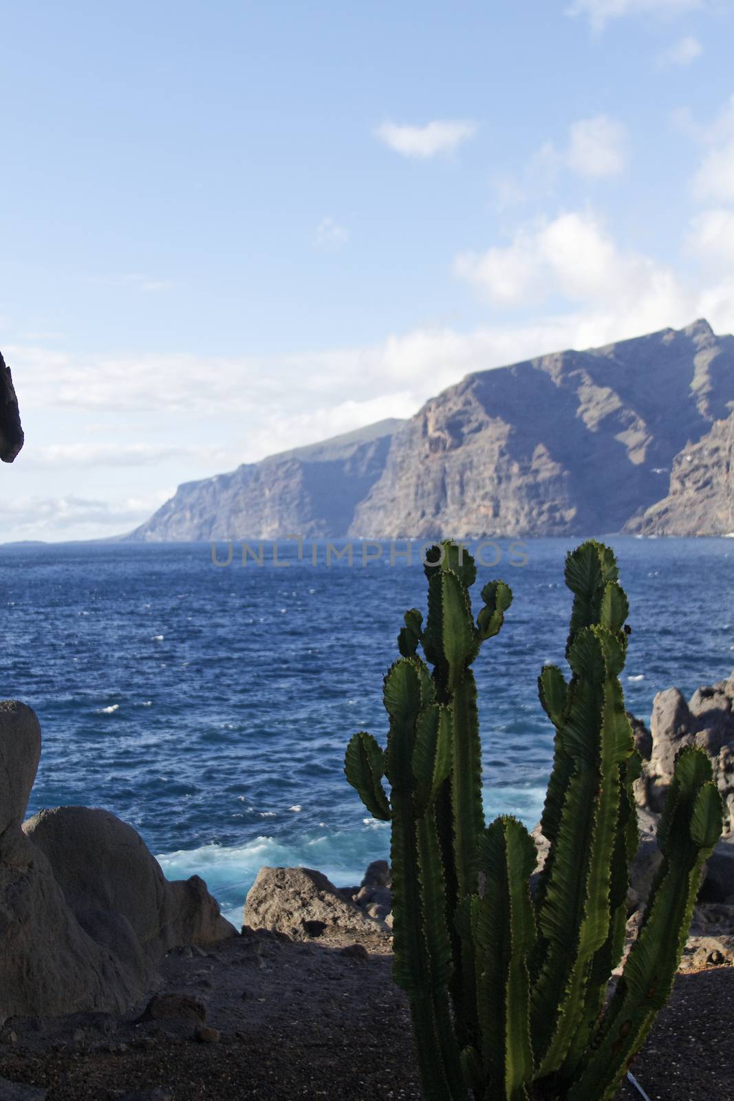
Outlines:
[{"label": "rocky shore of boulders and dark gravel around the cactus", "polygon": [[[689,701],[658,694],[650,729],[634,720],[634,730],[645,763],[627,948],[680,745],[706,749],[726,808],[673,996],[635,1072],[660,1101],[697,1091],[724,1101],[734,673]],[[419,1099],[407,1003],[391,975],[386,861],[348,887],[313,869],[263,868],[238,934],[201,880],[168,883],[114,815],[65,807],[23,821],[40,746],[30,708],[0,704],[0,1101]],[[539,869],[545,839],[534,832]]]}]

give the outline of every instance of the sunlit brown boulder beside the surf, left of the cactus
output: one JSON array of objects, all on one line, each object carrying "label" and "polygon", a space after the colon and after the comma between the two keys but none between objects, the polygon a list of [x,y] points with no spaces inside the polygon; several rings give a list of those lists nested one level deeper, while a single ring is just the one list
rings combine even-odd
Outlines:
[{"label": "sunlit brown boulder beside the surf, left of the cactus", "polygon": [[243,924],[285,933],[294,940],[331,930],[385,931],[382,922],[368,917],[311,868],[261,868],[248,893]]}]

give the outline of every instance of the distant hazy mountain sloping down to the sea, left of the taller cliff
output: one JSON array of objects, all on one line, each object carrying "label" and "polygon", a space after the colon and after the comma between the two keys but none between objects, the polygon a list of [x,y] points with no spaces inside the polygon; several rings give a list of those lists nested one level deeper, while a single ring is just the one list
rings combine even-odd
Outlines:
[{"label": "distant hazy mountain sloping down to the sea, left of the taller cliff", "polygon": [[146,543],[211,538],[336,538],[385,466],[402,421],[381,421],[320,444],[179,486],[127,536]]}]

